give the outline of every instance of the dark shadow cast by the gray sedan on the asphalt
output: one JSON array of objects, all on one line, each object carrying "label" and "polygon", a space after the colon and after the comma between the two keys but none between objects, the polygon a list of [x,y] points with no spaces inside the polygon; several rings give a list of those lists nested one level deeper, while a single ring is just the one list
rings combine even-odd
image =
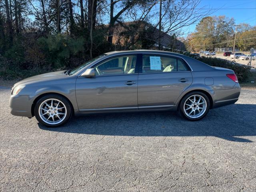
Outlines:
[{"label": "dark shadow cast by the gray sedan on the asphalt", "polygon": [[58,128],[38,124],[42,130],[109,136],[215,136],[234,142],[252,142],[243,136],[256,136],[256,105],[232,104],[210,110],[196,122],[184,120],[175,112],[99,114],[74,117]]}]

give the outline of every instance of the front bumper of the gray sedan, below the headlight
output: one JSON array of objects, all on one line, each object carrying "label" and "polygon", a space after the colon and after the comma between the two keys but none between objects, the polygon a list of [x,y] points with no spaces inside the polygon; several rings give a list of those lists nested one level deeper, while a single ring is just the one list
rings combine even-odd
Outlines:
[{"label": "front bumper of the gray sedan, below the headlight", "polygon": [[38,95],[11,95],[9,106],[15,116],[32,117],[32,104]]}]

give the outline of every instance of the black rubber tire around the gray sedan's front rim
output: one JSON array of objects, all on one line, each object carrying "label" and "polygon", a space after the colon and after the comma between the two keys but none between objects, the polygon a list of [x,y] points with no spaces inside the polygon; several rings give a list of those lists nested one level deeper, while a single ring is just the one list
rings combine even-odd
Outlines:
[{"label": "black rubber tire around the gray sedan's front rim", "polygon": [[[46,123],[44,122],[44,120],[42,120],[42,118],[40,117],[40,114],[39,114],[39,107],[40,105],[46,101],[46,100],[50,100],[50,99],[55,99],[55,100],[59,100],[60,102],[62,102],[64,105],[65,105],[65,109],[66,110],[66,116],[64,116],[64,118],[59,122],[59,123],[56,123],[56,124],[49,124],[49,123]],[[56,101],[57,102],[57,101]],[[50,110],[50,108],[49,108]],[[58,110],[58,109],[57,109]],[[45,126],[48,126],[48,127],[58,127],[58,126],[61,126],[63,124],[65,124],[69,119],[70,117],[72,116],[72,106],[70,104],[70,102],[63,96],[60,96],[58,94],[48,94],[48,95],[45,95],[43,96],[42,98],[40,98],[37,102],[36,102],[36,105],[35,105],[35,108],[34,108],[34,114],[35,114],[35,117],[36,119],[38,120],[38,122],[40,124],[43,124]],[[50,111],[49,111],[50,112]],[[50,116],[50,114],[49,114]],[[56,117],[55,117],[56,118]]]}]

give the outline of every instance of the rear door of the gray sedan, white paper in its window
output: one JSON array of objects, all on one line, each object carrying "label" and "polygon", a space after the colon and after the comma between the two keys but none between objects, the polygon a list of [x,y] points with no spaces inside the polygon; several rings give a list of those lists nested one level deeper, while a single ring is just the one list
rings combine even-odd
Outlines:
[{"label": "rear door of the gray sedan, white paper in its window", "polygon": [[143,54],[138,76],[138,108],[171,108],[191,84],[190,67],[182,58]]}]

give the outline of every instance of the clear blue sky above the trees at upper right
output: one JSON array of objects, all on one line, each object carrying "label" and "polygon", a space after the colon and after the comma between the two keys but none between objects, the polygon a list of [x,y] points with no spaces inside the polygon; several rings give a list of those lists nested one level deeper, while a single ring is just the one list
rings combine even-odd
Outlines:
[{"label": "clear blue sky above the trees at upper right", "polygon": [[[225,15],[229,18],[234,18],[236,24],[248,23],[251,26],[256,26],[256,0],[201,0],[198,8],[202,7],[220,8],[209,16]],[[196,24],[193,24],[184,28],[184,30],[187,33],[194,32],[195,28]]]}]

